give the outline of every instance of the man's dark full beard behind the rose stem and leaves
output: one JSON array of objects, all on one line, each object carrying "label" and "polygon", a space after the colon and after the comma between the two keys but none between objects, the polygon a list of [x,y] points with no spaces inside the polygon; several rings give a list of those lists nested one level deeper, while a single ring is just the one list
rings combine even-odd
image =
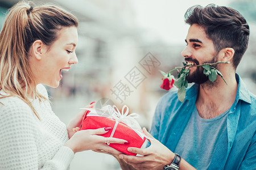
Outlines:
[{"label": "man's dark full beard behind the rose stem and leaves", "polygon": [[[213,57],[212,61],[207,61],[205,63],[214,63],[216,56]],[[193,61],[195,62],[197,65],[199,65],[199,61],[197,61],[196,59],[192,59],[192,58],[187,58],[185,59],[186,61]],[[214,67],[217,69],[217,65],[213,65],[211,67]],[[197,84],[203,84],[205,82],[207,82],[209,80],[208,76],[206,76],[204,74],[204,68],[202,66],[200,67],[196,67],[196,71],[194,71],[193,73],[190,73],[188,76],[186,77],[186,80],[188,81],[188,83],[197,83]]]}]

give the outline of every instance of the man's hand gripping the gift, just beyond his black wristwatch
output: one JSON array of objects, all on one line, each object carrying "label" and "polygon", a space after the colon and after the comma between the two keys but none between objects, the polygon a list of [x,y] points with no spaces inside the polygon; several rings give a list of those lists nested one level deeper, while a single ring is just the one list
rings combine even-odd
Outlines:
[{"label": "man's hand gripping the gift, just beyond his black wristwatch", "polygon": [[119,158],[127,164],[132,165],[135,169],[163,169],[170,164],[175,157],[174,152],[170,151],[166,146],[156,140],[146,128],[143,128],[144,134],[150,137],[151,145],[147,148],[129,147],[128,151],[143,156],[131,156],[120,154]]}]

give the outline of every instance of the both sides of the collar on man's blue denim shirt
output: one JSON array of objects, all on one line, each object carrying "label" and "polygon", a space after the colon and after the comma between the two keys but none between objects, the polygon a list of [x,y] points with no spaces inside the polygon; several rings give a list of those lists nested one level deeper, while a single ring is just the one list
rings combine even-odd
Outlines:
[{"label": "both sides of the collar on man's blue denim shirt", "polygon": [[[240,75],[238,75],[237,73],[236,73],[236,80],[238,83],[238,88],[237,88],[235,103],[237,104],[238,100],[243,100],[251,104],[251,97],[249,94],[249,90],[247,89]],[[192,97],[196,97],[198,91],[199,91],[199,84],[193,84],[193,86],[188,88],[188,90],[186,91],[185,100],[190,100]]]}]

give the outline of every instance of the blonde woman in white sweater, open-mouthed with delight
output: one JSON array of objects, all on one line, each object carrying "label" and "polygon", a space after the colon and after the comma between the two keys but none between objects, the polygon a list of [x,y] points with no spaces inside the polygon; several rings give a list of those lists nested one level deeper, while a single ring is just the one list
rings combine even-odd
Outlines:
[{"label": "blonde woman in white sweater, open-mouthed with delight", "polygon": [[0,169],[67,169],[76,152],[117,152],[105,141],[127,143],[97,135],[109,127],[77,128],[84,112],[67,127],[52,112],[42,84],[58,87],[61,71],[78,62],[77,25],[59,7],[27,2],[6,16],[0,34]]}]

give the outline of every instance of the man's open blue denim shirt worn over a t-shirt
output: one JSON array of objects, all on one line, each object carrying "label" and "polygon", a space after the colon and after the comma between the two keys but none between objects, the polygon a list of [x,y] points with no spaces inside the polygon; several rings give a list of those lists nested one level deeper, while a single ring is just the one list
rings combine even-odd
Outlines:
[{"label": "man's open blue denim shirt worn over a t-shirt", "polygon": [[[238,74],[236,79],[238,89],[227,128],[217,142],[208,169],[256,169],[256,96],[247,90]],[[168,92],[156,107],[150,133],[171,151],[191,117],[198,90],[198,84],[188,88],[184,103],[177,98],[177,91]]]}]

